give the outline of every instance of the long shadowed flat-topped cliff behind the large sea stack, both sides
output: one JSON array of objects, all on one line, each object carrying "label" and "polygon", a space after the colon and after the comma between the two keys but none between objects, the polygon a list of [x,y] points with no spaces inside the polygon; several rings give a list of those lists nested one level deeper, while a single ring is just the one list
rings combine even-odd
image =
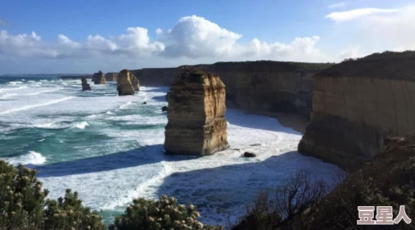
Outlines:
[{"label": "long shadowed flat-topped cliff behind the large sea stack, both sides", "polygon": [[[193,67],[218,75],[226,85],[228,106],[254,112],[300,113],[308,116],[314,79],[333,64],[299,62],[217,62]],[[133,71],[142,85],[170,85],[179,68]]]}]

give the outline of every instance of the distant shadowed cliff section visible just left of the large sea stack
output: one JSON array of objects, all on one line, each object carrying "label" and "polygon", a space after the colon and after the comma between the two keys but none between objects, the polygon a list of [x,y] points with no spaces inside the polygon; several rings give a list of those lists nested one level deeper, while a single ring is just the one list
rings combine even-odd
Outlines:
[{"label": "distant shadowed cliff section visible just left of the large sea stack", "polygon": [[131,71],[136,78],[140,79],[141,85],[161,86],[170,85],[173,80],[175,68],[149,68]]}]

